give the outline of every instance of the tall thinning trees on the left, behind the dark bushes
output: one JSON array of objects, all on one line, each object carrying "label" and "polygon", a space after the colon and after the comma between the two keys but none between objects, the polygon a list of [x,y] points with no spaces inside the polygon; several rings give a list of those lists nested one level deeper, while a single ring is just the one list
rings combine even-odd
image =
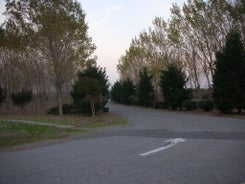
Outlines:
[{"label": "tall thinning trees on the left, behind the dark bushes", "polygon": [[96,46],[88,35],[80,3],[6,0],[5,8],[7,19],[0,29],[0,86],[6,106],[11,108],[14,93],[31,91],[39,105],[45,105],[55,92],[62,115],[64,95],[69,95],[79,73],[96,68]]}]

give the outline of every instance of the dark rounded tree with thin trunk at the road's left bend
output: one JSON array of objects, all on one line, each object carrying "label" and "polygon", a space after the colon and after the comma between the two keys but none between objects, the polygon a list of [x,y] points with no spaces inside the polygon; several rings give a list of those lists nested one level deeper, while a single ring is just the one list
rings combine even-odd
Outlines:
[{"label": "dark rounded tree with thin trunk at the road's left bend", "polygon": [[73,104],[81,112],[90,114],[91,105],[93,105],[91,103],[94,103],[96,112],[107,103],[108,87],[109,83],[105,69],[90,66],[78,74],[78,79],[73,85],[71,91]]}]

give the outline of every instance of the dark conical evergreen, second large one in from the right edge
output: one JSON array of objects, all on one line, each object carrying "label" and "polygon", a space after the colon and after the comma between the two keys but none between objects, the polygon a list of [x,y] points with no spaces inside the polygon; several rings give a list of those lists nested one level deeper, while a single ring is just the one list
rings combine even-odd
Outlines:
[{"label": "dark conical evergreen, second large one in from the right edge", "polygon": [[180,68],[169,65],[166,71],[162,71],[160,86],[164,102],[172,109],[182,108],[182,102],[192,96],[192,90],[186,89],[186,76]]}]

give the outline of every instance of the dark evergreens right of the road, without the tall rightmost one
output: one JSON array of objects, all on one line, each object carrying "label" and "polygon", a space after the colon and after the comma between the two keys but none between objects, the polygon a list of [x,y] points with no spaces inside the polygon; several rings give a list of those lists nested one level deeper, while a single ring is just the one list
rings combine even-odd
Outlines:
[{"label": "dark evergreens right of the road, without the tall rightmost one", "polygon": [[169,65],[167,70],[161,71],[159,86],[162,97],[159,98],[154,93],[153,77],[145,67],[140,71],[139,82],[136,85],[129,78],[122,82],[117,81],[112,86],[111,98],[126,105],[182,109],[182,103],[192,98],[192,90],[186,88],[186,82],[182,70],[173,64]]}]

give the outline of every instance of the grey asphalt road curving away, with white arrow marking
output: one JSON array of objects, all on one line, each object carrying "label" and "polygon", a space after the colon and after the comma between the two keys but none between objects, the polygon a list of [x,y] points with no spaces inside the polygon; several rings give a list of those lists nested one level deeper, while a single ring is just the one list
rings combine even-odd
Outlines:
[{"label": "grey asphalt road curving away, with white arrow marking", "polygon": [[[245,184],[244,120],[122,105],[110,111],[130,126],[0,153],[0,183]],[[185,142],[166,142],[175,138]],[[151,150],[158,151],[142,156]]]}]

